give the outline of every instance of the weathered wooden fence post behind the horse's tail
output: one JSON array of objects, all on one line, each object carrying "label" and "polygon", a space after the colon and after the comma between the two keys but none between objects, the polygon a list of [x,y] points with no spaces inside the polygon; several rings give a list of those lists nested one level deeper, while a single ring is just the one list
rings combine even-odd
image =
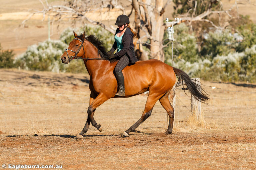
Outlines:
[{"label": "weathered wooden fence post behind the horse's tail", "polygon": [[[200,86],[200,78],[192,78],[195,80],[196,84]],[[201,89],[200,89],[201,91]],[[199,120],[201,116],[201,101],[196,100],[192,95],[191,95],[191,116],[195,114],[196,118]]]}]

